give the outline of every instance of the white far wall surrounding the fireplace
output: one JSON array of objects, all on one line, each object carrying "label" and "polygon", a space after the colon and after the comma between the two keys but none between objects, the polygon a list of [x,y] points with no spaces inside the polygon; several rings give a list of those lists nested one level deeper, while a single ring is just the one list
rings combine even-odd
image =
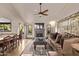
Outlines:
[{"label": "white far wall surrounding the fireplace", "polygon": [[[32,17],[29,17],[29,18],[27,18],[26,20],[28,20],[27,21],[27,25],[28,24],[30,24],[30,25],[32,25],[32,27],[33,27],[33,34],[32,35],[27,35],[28,37],[34,37],[34,24],[35,23],[44,23],[44,27],[45,27],[45,36],[46,36],[46,30],[47,30],[47,28],[46,28],[46,26],[47,26],[47,24],[49,23],[48,21],[48,19],[47,19],[47,16],[42,16],[42,17],[39,17],[38,15],[36,15],[36,16],[34,16],[34,18],[32,18]],[[29,21],[29,20],[31,20],[31,21]],[[28,28],[27,28],[27,30],[28,30]]]}]

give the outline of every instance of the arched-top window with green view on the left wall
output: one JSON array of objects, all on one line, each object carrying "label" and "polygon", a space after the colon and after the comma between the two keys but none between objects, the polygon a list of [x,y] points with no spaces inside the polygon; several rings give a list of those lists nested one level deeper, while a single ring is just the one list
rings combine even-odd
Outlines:
[{"label": "arched-top window with green view on the left wall", "polygon": [[0,32],[10,32],[11,22],[8,19],[0,18]]}]

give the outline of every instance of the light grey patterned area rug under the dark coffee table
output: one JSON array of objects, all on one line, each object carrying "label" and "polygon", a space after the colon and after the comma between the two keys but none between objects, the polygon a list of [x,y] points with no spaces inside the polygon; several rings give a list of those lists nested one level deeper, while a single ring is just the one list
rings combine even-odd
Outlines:
[{"label": "light grey patterned area rug under the dark coffee table", "polygon": [[33,40],[29,40],[22,56],[48,56],[48,51],[54,51],[54,49],[49,45],[47,45],[47,49],[45,49],[44,45],[37,45],[36,50],[34,50]]}]

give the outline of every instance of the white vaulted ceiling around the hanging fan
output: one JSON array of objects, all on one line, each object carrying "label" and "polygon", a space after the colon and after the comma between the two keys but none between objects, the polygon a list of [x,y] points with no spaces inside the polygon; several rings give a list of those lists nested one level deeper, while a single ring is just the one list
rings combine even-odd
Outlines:
[{"label": "white vaulted ceiling around the hanging fan", "polygon": [[[6,4],[2,5],[5,6]],[[11,14],[14,14],[15,16],[21,18],[21,20],[23,20],[25,23],[32,23],[35,21],[58,21],[79,11],[79,4],[77,3],[43,3],[42,10],[48,9],[48,16],[42,16],[42,18],[39,18],[38,15],[34,15],[39,12],[38,3],[16,3],[8,4],[8,6],[9,7],[5,6],[7,10],[11,11]]]}]

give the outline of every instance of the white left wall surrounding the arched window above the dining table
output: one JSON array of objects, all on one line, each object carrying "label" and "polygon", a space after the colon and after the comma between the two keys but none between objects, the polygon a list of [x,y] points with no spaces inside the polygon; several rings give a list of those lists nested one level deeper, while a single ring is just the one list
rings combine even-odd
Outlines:
[{"label": "white left wall surrounding the arched window above the dining table", "polygon": [[[18,27],[19,23],[23,23],[22,19],[17,15],[16,12],[12,9],[10,4],[0,4],[0,18],[9,19],[12,23],[12,31],[6,33],[17,33],[18,34]],[[5,33],[5,32],[0,32]]]}]

